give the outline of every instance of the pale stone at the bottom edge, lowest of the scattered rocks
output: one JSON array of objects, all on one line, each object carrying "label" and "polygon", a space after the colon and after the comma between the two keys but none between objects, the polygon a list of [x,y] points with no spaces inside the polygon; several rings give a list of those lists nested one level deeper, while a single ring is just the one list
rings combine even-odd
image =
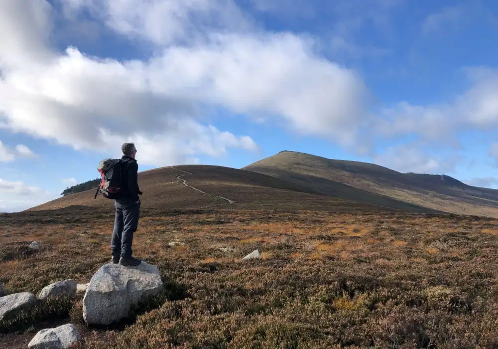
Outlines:
[{"label": "pale stone at the bottom edge, lowest of the scattered rocks", "polygon": [[28,344],[29,349],[66,349],[81,341],[81,335],[73,324],[41,330]]}]

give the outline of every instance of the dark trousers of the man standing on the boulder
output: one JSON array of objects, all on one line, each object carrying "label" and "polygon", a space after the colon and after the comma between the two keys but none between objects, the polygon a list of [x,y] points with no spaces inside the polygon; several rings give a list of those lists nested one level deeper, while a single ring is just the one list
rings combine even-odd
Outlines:
[{"label": "dark trousers of the man standing on the boulder", "polygon": [[115,202],[116,218],[114,220],[113,237],[111,238],[111,254],[124,258],[131,257],[133,233],[138,227],[140,203]]}]

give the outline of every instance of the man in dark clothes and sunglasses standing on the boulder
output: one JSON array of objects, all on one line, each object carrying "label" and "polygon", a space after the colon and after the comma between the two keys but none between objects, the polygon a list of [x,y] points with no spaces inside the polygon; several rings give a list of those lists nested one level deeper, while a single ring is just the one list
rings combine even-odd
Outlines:
[{"label": "man in dark clothes and sunglasses standing on the boulder", "polygon": [[142,194],[138,188],[138,164],[135,160],[136,148],[133,143],[124,143],[121,147],[121,178],[124,195],[116,199],[116,218],[114,221],[113,237],[111,239],[112,262],[124,266],[137,266],[140,259],[131,256],[133,233],[138,226],[140,214],[140,198]]}]

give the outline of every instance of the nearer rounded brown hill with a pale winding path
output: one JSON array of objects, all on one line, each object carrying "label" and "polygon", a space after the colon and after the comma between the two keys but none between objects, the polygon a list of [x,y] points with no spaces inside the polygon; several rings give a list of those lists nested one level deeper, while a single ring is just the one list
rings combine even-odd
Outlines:
[{"label": "nearer rounded brown hill with a pale winding path", "polygon": [[[184,185],[186,180],[188,187]],[[160,168],[138,174],[142,207],[150,209],[199,209],[199,208],[312,208],[332,211],[387,211],[381,205],[372,206],[364,202],[319,194],[318,191],[275,178],[266,174],[219,166],[187,165]],[[192,187],[198,189],[195,190]],[[200,190],[200,191],[199,191]],[[202,191],[202,192],[201,192]],[[351,192],[359,191],[352,188]],[[361,191],[361,190],[360,190]],[[204,192],[204,193],[203,193]],[[61,209],[90,206],[112,208],[113,200],[100,195],[94,199],[95,188],[60,197],[29,210]],[[366,195],[372,195],[366,193]],[[416,205],[399,202],[396,207],[411,212],[427,212]]]}]

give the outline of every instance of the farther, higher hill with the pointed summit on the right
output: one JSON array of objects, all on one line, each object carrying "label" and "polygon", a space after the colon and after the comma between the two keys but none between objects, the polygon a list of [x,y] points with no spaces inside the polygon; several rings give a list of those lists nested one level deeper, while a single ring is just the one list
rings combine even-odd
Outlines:
[{"label": "farther, higher hill with the pointed summit on the right", "polygon": [[[393,199],[451,213],[498,217],[498,190],[470,186],[446,175],[403,174],[369,163],[288,151],[243,169],[342,199],[396,207],[389,204],[388,199]],[[351,196],[351,188],[375,194],[377,201],[372,196]]]}]

